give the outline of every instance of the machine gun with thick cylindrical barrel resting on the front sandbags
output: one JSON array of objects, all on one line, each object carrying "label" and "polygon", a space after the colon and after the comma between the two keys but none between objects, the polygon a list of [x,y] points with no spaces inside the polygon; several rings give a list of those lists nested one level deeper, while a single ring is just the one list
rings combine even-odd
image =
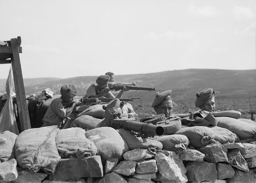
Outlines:
[{"label": "machine gun with thick cylindrical barrel resting on the front sandbags", "polygon": [[110,127],[135,131],[137,133],[133,133],[142,138],[154,137],[155,135],[161,136],[165,133],[165,129],[162,126],[127,119],[113,119],[110,122]]}]

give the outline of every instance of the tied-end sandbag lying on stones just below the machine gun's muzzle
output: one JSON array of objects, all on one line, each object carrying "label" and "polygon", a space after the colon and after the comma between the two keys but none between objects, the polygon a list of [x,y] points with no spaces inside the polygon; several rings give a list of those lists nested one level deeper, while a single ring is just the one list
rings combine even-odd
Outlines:
[{"label": "tied-end sandbag lying on stones just below the machine gun's muzzle", "polygon": [[156,141],[163,144],[163,149],[174,152],[186,150],[189,144],[188,137],[179,134],[157,136]]}]

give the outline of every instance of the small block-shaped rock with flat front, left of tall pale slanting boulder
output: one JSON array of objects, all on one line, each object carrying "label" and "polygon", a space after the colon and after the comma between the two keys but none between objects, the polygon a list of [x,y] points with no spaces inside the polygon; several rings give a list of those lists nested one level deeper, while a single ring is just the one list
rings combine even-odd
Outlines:
[{"label": "small block-shaped rock with flat front, left of tall pale slanting boulder", "polygon": [[156,173],[157,172],[157,166],[156,166],[156,160],[145,160],[142,162],[137,162],[136,166],[136,173]]}]

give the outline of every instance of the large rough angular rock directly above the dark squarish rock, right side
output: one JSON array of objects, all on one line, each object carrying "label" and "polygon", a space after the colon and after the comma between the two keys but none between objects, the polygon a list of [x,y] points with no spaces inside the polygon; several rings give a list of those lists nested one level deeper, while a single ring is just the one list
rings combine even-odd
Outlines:
[{"label": "large rough angular rock directly above the dark squarish rock, right side", "polygon": [[211,163],[227,161],[227,149],[218,141],[212,141],[211,144],[197,150],[205,154],[205,161]]}]

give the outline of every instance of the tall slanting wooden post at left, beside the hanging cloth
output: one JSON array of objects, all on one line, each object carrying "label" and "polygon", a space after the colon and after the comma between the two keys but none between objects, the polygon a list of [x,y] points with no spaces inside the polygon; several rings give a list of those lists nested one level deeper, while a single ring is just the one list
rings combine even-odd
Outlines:
[{"label": "tall slanting wooden post at left, beside the hanging cloth", "polygon": [[11,39],[12,48],[12,66],[13,66],[13,79],[15,85],[15,93],[17,98],[17,106],[19,113],[19,120],[21,124],[21,130],[30,129],[29,111],[27,106],[27,100],[25,95],[24,82],[22,77],[21,65],[20,65],[20,55],[18,50],[18,43],[16,38]]}]

